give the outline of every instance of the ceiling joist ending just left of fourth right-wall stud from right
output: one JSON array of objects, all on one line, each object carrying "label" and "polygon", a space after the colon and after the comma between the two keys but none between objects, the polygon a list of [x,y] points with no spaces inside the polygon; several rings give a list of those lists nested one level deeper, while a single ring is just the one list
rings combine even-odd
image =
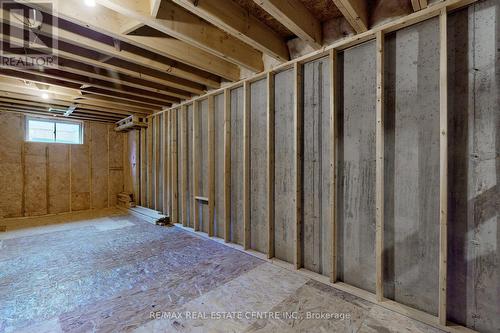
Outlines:
[{"label": "ceiling joist ending just left of fourth right-wall stud from right", "polygon": [[173,2],[278,61],[284,62],[290,59],[285,41],[232,1],[173,0]]}]

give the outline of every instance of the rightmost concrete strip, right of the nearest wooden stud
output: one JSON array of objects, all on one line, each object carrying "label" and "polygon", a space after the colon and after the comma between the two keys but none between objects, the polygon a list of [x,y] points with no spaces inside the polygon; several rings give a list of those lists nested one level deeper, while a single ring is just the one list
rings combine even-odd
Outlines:
[{"label": "rightmost concrete strip, right of the nearest wooden stud", "polygon": [[500,332],[500,1],[449,16],[448,318]]}]

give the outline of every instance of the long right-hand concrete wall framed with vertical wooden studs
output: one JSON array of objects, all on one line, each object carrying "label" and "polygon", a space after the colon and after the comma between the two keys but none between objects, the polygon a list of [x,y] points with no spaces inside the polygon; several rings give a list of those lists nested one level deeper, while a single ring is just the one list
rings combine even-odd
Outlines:
[{"label": "long right-hand concrete wall framed with vertical wooden studs", "polygon": [[498,13],[442,11],[153,116],[140,203],[447,331],[498,332]]}]

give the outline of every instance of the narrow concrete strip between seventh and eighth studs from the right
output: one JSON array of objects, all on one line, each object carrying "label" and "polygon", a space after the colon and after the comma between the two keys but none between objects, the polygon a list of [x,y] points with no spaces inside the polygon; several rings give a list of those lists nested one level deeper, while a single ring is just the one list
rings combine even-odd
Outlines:
[{"label": "narrow concrete strip between seventh and eighth studs from the right", "polygon": [[224,238],[224,94],[214,97],[215,104],[215,236]]}]

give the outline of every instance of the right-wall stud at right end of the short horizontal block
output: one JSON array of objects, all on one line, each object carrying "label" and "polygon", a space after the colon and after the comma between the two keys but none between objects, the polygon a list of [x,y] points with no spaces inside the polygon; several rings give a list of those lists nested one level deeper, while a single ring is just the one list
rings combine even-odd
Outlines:
[{"label": "right-wall stud at right end of the short horizontal block", "polygon": [[208,96],[208,236],[214,236],[215,224],[215,105]]}]

